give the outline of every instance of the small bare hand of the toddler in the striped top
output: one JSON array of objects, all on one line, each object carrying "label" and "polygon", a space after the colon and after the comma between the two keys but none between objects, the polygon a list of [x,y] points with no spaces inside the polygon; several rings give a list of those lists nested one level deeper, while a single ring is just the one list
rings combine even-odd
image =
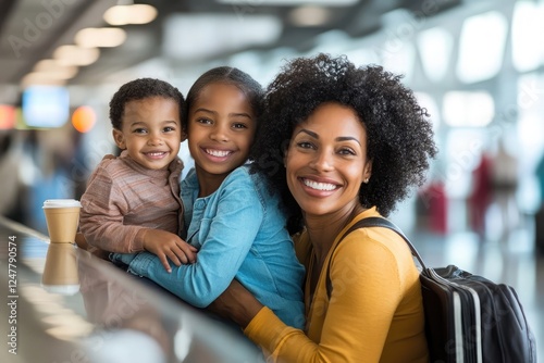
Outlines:
[{"label": "small bare hand of the toddler in the striped top", "polygon": [[144,248],[157,254],[164,268],[170,273],[170,259],[176,266],[182,263],[194,263],[197,259],[196,247],[190,246],[178,236],[162,229],[147,229],[144,233]]}]

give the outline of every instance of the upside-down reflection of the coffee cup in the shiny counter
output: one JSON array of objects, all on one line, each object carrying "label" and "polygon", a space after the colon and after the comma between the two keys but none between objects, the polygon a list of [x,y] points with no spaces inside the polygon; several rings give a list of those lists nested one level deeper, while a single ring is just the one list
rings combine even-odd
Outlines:
[{"label": "upside-down reflection of the coffee cup in the shiny counter", "polygon": [[74,295],[79,291],[76,246],[72,243],[49,243],[41,286],[46,291]]}]

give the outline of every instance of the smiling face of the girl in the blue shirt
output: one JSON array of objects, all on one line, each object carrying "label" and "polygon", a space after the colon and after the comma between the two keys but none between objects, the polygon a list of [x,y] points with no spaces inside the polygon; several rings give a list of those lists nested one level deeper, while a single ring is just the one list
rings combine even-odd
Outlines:
[{"label": "smiling face of the girl in the blue shirt", "polygon": [[257,128],[246,95],[236,86],[212,83],[190,104],[187,138],[200,175],[228,175],[244,164]]}]

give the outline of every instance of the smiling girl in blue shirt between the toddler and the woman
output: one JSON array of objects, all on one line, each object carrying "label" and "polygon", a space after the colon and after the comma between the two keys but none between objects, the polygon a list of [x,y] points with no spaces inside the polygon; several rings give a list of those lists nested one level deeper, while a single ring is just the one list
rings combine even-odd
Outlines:
[{"label": "smiling girl in blue shirt between the toddler and the woman", "polygon": [[261,86],[233,67],[208,71],[187,95],[183,128],[195,168],[182,183],[183,237],[199,249],[197,261],[169,274],[150,253],[115,254],[113,260],[198,308],[236,278],[285,324],[301,328],[305,271],[285,228],[281,198],[245,165],[261,98]]}]

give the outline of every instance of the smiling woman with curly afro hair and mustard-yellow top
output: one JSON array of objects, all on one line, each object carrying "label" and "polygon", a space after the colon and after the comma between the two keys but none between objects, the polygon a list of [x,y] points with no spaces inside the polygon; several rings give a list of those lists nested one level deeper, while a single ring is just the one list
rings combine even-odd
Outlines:
[{"label": "smiling woman with curly afro hair and mustard-yellow top", "polygon": [[357,221],[387,216],[424,182],[437,152],[426,116],[399,76],[344,57],[295,59],[269,86],[252,167],[282,191],[299,230],[306,327],[283,324],[236,281],[211,308],[271,361],[428,362],[419,272],[406,242],[372,227],[334,248]]}]

